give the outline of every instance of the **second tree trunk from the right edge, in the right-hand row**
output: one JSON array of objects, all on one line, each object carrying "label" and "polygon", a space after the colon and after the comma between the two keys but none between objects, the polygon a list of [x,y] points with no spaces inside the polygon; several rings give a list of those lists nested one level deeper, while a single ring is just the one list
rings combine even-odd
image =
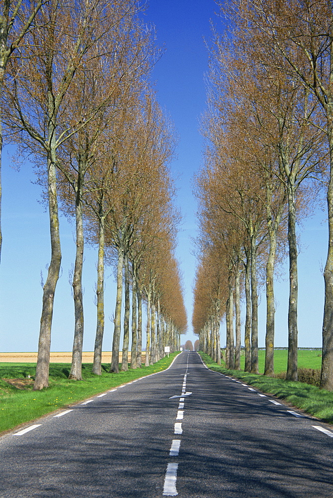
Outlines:
[{"label": "second tree trunk from the right edge, in the right-hand row", "polygon": [[288,178],[288,244],[289,244],[289,309],[288,309],[288,366],[286,380],[297,380],[297,242],[294,186]]}]

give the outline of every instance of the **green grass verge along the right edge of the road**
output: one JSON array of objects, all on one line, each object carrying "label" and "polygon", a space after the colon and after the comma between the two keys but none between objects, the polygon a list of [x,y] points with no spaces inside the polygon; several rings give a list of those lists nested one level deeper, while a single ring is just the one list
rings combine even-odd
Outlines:
[{"label": "green grass verge along the right edge of the road", "polygon": [[210,370],[232,375],[246,384],[253,385],[261,392],[283,399],[323,422],[333,424],[333,392],[304,382],[293,382],[238,370],[226,370],[224,366],[213,362],[212,358],[205,353],[200,352],[200,356]]}]

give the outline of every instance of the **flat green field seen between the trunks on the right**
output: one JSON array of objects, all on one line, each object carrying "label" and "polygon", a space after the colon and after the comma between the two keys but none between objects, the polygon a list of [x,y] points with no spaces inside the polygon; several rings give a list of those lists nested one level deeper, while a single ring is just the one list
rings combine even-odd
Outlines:
[{"label": "flat green field seen between the trunks on the right", "polygon": [[[265,370],[265,351],[258,351],[259,358],[259,373],[264,373]],[[287,371],[287,350],[274,351],[274,372],[281,373]],[[244,370],[245,357],[240,357],[240,368]],[[298,352],[298,368],[303,369],[321,369],[322,368],[322,352],[319,350],[308,351],[299,350]]]}]

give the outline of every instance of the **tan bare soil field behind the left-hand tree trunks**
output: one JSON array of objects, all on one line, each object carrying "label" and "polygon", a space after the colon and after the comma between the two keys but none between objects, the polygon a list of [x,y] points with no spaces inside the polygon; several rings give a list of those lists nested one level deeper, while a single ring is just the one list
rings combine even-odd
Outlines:
[{"label": "tan bare soil field behind the left-hand tree trunks", "polygon": [[[112,358],[111,351],[102,353],[102,362],[110,363]],[[128,362],[131,354],[128,353]],[[93,363],[94,352],[82,353],[82,363]],[[122,361],[122,353],[119,353],[119,362]],[[145,361],[145,353],[142,353],[142,362]],[[0,362],[10,363],[36,363],[37,353],[0,353]],[[71,363],[72,353],[50,353],[50,363]]]}]

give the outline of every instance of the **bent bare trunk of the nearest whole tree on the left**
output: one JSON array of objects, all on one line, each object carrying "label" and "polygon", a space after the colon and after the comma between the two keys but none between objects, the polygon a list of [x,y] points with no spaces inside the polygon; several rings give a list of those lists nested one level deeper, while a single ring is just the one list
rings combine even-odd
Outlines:
[{"label": "bent bare trunk of the nearest whole tree on the left", "polygon": [[[54,142],[54,139],[52,141]],[[52,157],[48,158],[47,164],[48,202],[51,235],[51,262],[47,272],[47,279],[43,288],[43,306],[42,316],[40,319],[36,376],[33,386],[34,390],[43,389],[43,387],[47,387],[49,385],[53,303],[61,265],[55,147],[53,147],[52,152]]]}]

